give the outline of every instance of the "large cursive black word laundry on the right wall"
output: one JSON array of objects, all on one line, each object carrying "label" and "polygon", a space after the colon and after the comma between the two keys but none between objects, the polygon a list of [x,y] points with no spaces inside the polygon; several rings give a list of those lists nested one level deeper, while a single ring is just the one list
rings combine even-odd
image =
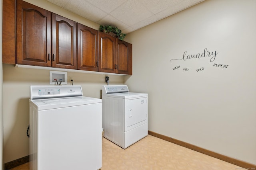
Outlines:
[{"label": "large cursive black word laundry on the right wall", "polygon": [[190,60],[190,59],[200,59],[200,58],[206,58],[210,57],[210,62],[213,62],[216,59],[216,55],[218,54],[217,51],[208,51],[207,48],[204,49],[203,53],[197,53],[197,54],[192,54],[192,55],[187,55],[187,51],[184,51],[182,59],[171,59],[172,60]]}]

